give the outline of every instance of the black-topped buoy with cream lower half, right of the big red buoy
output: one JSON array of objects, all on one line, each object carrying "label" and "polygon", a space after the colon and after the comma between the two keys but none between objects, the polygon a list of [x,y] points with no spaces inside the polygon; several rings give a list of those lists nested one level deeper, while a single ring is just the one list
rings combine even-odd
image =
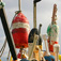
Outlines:
[{"label": "black-topped buoy with cream lower half, right of the big red buoy", "polygon": [[34,33],[39,35],[39,31],[36,28],[33,28],[30,33],[29,33],[29,39],[28,39],[28,55],[30,56],[30,52],[32,51],[32,47],[33,47],[33,41],[34,41]]}]

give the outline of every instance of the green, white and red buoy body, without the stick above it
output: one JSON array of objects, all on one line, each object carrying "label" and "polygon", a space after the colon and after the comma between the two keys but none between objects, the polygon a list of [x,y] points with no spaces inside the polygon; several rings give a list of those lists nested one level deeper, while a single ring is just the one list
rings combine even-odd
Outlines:
[{"label": "green, white and red buoy body, without the stick above it", "polygon": [[59,36],[58,36],[59,35],[59,27],[58,27],[58,25],[48,26],[47,34],[48,34],[49,51],[54,51],[54,45],[58,44],[58,41],[59,41]]}]

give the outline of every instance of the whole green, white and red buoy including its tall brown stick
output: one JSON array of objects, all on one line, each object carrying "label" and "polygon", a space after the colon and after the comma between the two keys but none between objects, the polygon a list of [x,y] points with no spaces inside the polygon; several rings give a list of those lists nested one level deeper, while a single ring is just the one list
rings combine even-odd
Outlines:
[{"label": "whole green, white and red buoy including its tall brown stick", "polygon": [[54,51],[54,45],[59,41],[59,26],[57,25],[57,4],[54,4],[51,24],[47,28],[49,51]]}]

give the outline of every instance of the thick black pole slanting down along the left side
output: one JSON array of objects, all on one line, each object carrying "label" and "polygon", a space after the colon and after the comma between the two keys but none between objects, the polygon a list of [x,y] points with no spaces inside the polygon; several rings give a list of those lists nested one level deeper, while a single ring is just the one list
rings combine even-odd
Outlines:
[{"label": "thick black pole slanting down along the left side", "polygon": [[9,47],[10,47],[10,51],[12,54],[12,57],[13,57],[14,61],[15,61],[15,60],[17,60],[15,45],[14,45],[14,42],[13,42],[12,34],[10,32],[10,27],[9,27],[9,24],[7,24],[7,19],[6,19],[6,16],[5,16],[4,9],[0,9],[0,17],[1,17],[1,22],[2,22],[4,33],[5,33],[5,36],[6,36],[6,40],[7,40],[7,44],[9,44]]}]

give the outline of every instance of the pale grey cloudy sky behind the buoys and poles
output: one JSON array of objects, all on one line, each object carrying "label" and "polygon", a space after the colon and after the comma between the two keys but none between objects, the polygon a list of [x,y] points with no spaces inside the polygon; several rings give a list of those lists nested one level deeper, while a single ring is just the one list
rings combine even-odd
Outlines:
[{"label": "pale grey cloudy sky behind the buoys and poles", "polygon": [[[18,11],[18,0],[3,0],[5,2],[5,13],[7,17],[9,25],[11,27],[12,19],[15,15],[15,11]],[[57,4],[57,24],[59,26],[59,44],[61,46],[61,0],[42,0],[36,4],[36,28],[42,24],[41,33],[46,34],[47,27],[51,22],[52,9],[54,4]],[[33,0],[21,0],[21,12],[28,18],[30,24],[30,29],[33,28]],[[4,31],[2,28],[1,19],[0,19],[0,48],[2,47],[5,40]],[[43,46],[44,47],[44,46]],[[44,49],[44,48],[43,48]],[[2,56],[2,61],[6,60],[9,52],[9,46],[6,45],[5,51]],[[61,48],[60,48],[61,54]]]}]

